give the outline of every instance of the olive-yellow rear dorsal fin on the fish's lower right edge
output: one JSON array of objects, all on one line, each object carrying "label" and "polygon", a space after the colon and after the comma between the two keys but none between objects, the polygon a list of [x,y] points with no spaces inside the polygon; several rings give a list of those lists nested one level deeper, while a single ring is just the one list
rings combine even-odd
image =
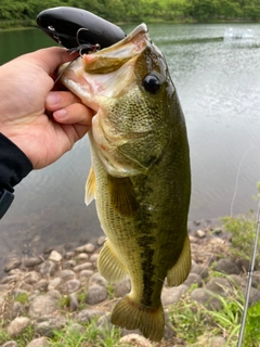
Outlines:
[{"label": "olive-yellow rear dorsal fin on the fish's lower right edge", "polygon": [[174,266],[168,270],[167,272],[167,282],[169,286],[177,286],[182,284],[192,267],[192,259],[191,259],[191,245],[190,245],[190,239],[186,234],[186,239],[183,244],[182,253],[178,259],[178,261],[174,264]]}]

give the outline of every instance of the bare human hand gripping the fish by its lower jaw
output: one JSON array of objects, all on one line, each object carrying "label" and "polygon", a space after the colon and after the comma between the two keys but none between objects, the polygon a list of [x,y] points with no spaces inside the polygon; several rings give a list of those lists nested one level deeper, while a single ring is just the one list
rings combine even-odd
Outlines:
[{"label": "bare human hand gripping the fish by its lower jaw", "polygon": [[53,47],[0,66],[0,132],[26,154],[35,169],[55,162],[91,127],[92,111],[76,95],[52,91],[51,75],[72,59],[65,49]]}]

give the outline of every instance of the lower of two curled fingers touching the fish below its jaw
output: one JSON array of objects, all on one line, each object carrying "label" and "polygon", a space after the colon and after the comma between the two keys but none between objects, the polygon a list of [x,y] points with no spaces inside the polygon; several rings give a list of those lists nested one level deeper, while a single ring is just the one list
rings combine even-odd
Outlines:
[{"label": "lower of two curled fingers touching the fish below its jaw", "polygon": [[93,111],[80,103],[70,104],[53,113],[53,118],[60,124],[82,125],[89,128],[92,117]]}]

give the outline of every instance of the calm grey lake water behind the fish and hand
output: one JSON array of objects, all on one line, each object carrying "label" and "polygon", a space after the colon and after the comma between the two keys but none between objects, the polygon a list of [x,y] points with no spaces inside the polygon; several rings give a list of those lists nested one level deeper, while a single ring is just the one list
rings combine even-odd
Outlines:
[{"label": "calm grey lake water behind the fish and hand", "polygon": [[[260,180],[260,25],[252,40],[225,42],[229,24],[148,25],[164,52],[185,114],[193,191],[190,220],[256,209]],[[122,27],[129,33],[133,26]],[[0,33],[0,64],[53,46],[40,30]],[[0,257],[102,234],[92,203],[84,206],[90,168],[88,139],[15,190],[0,222]],[[0,258],[0,260],[1,260]]]}]

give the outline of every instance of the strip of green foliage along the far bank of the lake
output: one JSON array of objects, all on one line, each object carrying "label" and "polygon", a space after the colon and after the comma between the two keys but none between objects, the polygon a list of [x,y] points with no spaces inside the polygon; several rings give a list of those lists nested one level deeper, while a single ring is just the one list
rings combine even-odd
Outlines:
[{"label": "strip of green foliage along the far bank of the lake", "polygon": [[26,26],[42,10],[61,5],[81,8],[116,23],[260,20],[259,0],[1,0],[0,27]]}]

